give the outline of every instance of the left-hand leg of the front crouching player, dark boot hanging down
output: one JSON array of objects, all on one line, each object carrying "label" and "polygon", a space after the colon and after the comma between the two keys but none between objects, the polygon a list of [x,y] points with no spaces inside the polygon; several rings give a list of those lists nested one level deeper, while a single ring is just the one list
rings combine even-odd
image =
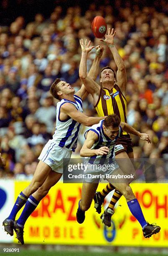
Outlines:
[{"label": "left-hand leg of the front crouching player, dark boot hanging down", "polygon": [[83,183],[82,185],[81,200],[79,201],[79,207],[76,212],[76,220],[80,224],[84,222],[85,211],[90,208],[97,187],[98,183]]}]

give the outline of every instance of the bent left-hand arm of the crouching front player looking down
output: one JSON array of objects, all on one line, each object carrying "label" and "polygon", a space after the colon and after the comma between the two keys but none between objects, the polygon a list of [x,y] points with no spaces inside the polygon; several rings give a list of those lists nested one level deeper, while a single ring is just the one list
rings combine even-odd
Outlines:
[{"label": "bent left-hand arm of the crouching front player looking down", "polygon": [[92,148],[95,141],[98,140],[98,135],[94,131],[88,131],[86,141],[81,148],[80,156],[95,156],[95,155],[107,155],[109,152],[108,147],[101,147],[98,149],[90,149]]}]

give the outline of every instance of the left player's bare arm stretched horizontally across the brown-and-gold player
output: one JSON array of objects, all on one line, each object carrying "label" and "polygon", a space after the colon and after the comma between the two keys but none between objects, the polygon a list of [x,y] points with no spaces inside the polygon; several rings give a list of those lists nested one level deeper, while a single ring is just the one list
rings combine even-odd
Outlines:
[{"label": "left player's bare arm stretched horizontally across the brown-and-gold player", "polygon": [[99,123],[100,120],[105,118],[105,117],[89,117],[87,115],[84,115],[83,113],[79,112],[73,104],[68,102],[62,105],[61,112],[62,111],[66,115],[70,116],[76,122],[79,122],[86,126],[92,126],[96,123]]}]

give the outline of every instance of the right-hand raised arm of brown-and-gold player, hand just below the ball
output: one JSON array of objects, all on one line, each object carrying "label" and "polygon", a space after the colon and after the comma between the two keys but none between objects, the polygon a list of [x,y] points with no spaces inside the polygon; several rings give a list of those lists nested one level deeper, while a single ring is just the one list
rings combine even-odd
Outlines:
[{"label": "right-hand raised arm of brown-and-gold player, hand just below the ball", "polygon": [[127,87],[127,74],[124,61],[122,60],[114,44],[115,33],[116,31],[114,31],[114,28],[112,28],[112,30],[109,28],[107,34],[105,35],[105,40],[100,39],[100,41],[104,42],[109,46],[109,49],[114,57],[115,64],[117,65],[117,84],[122,92],[125,94]]}]

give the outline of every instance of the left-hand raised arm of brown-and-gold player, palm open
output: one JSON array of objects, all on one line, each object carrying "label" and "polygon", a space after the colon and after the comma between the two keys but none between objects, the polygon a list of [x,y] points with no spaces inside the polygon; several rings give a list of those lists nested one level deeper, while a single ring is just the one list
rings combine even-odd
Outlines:
[{"label": "left-hand raised arm of brown-and-gold player, palm open", "polygon": [[100,91],[99,84],[94,82],[94,80],[87,75],[87,55],[89,51],[93,49],[93,46],[89,47],[90,41],[89,43],[87,43],[87,40],[86,40],[84,43],[83,39],[80,40],[80,45],[81,45],[82,53],[81,53],[81,61],[79,65],[79,77],[81,79],[81,82],[86,87],[87,91],[91,93],[92,96],[94,94],[99,95],[99,91]]}]

